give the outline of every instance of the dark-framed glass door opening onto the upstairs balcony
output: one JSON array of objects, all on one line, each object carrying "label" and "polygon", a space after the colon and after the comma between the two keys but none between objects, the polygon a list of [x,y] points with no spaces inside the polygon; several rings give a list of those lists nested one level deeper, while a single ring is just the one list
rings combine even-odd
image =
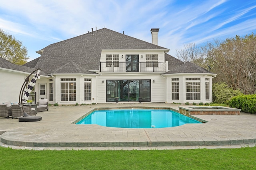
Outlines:
[{"label": "dark-framed glass door opening onto the upstairs balcony", "polygon": [[126,55],[126,72],[138,72],[139,55]]}]

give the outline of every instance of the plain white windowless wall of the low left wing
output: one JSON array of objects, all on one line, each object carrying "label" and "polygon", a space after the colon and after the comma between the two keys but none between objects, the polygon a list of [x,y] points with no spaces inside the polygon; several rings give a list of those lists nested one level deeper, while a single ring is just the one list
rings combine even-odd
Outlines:
[{"label": "plain white windowless wall of the low left wing", "polygon": [[19,102],[20,88],[28,76],[25,73],[0,70],[0,102]]}]

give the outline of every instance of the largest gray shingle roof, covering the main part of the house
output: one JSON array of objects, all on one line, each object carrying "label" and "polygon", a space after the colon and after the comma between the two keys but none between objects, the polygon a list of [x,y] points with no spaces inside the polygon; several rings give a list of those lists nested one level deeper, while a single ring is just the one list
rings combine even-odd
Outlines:
[{"label": "largest gray shingle roof, covering the main part of the house", "polygon": [[[162,49],[169,51],[164,47],[103,28],[93,31],[93,34],[92,32],[86,33],[45,47],[34,68],[41,68],[48,74],[95,74],[88,70],[99,69],[100,55],[103,49]],[[67,63],[69,64],[66,65]]]}]

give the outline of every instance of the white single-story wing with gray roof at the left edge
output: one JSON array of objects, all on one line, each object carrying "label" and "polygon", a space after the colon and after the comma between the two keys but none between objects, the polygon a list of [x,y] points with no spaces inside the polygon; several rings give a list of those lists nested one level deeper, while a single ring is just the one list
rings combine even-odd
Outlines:
[{"label": "white single-story wing with gray roof at the left edge", "polygon": [[[0,102],[18,103],[22,84],[25,78],[34,70],[34,68],[10,63],[0,57]],[[49,77],[44,72],[41,72],[41,78],[47,80]]]}]

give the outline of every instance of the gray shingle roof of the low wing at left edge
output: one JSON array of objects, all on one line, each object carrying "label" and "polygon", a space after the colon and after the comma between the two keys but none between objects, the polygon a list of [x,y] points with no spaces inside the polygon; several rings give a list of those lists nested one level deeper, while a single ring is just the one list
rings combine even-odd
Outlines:
[{"label": "gray shingle roof of the low wing at left edge", "polygon": [[[12,70],[17,70],[17,71],[22,71],[22,72],[27,72],[27,73],[31,73],[35,70],[35,68],[30,68],[30,67],[26,67],[26,66],[13,64],[13,63],[7,61],[6,59],[3,59],[2,57],[0,57],[0,67],[1,68],[12,69]],[[40,72],[40,74],[44,75],[44,76],[47,76],[47,74],[45,74],[42,71]]]}]

